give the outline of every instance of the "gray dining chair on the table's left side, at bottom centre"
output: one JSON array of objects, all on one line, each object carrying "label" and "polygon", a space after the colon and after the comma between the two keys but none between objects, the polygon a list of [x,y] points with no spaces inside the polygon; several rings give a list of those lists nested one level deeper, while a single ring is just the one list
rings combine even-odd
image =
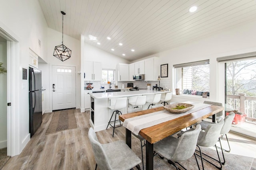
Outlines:
[{"label": "gray dining chair on the table's left side, at bottom centre", "polygon": [[92,127],[88,131],[88,137],[96,160],[95,170],[97,166],[101,170],[130,170],[135,166],[140,170],[140,158],[124,141],[101,144]]}]

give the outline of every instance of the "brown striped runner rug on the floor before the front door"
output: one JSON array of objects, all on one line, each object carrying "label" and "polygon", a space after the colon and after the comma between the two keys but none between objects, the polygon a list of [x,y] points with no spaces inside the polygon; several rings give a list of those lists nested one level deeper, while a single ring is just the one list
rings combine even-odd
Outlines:
[{"label": "brown striped runner rug on the floor before the front door", "polygon": [[76,117],[74,109],[61,110],[54,112],[52,120],[46,131],[46,135],[76,128]]}]

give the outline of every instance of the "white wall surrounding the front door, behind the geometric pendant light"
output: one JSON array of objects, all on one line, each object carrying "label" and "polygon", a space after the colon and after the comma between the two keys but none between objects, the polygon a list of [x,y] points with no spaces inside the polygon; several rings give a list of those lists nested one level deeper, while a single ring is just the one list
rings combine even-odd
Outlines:
[{"label": "white wall surrounding the front door, behind the geometric pendant light", "polygon": [[[66,61],[61,61],[53,56],[54,47],[61,45],[62,33],[47,28],[47,57],[48,64],[40,63],[38,69],[42,70],[42,86],[46,89],[45,99],[46,99],[46,113],[52,112],[52,65],[59,66],[75,66],[76,72],[80,70],[80,41],[74,39],[68,35],[63,35],[63,44],[68,47],[71,52],[70,59]],[[76,108],[80,107],[80,74],[76,74]]]}]

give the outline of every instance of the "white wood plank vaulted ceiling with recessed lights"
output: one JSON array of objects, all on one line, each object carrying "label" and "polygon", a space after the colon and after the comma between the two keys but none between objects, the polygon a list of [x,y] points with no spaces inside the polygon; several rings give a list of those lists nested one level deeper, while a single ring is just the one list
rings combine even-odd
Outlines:
[{"label": "white wood plank vaulted ceiling with recessed lights", "polygon": [[[50,28],[62,32],[60,11],[64,11],[64,34],[76,39],[82,34],[86,43],[128,61],[256,18],[256,0],[39,0],[39,3]],[[198,10],[188,12],[191,6],[197,6]],[[97,40],[91,41],[89,35]]]}]

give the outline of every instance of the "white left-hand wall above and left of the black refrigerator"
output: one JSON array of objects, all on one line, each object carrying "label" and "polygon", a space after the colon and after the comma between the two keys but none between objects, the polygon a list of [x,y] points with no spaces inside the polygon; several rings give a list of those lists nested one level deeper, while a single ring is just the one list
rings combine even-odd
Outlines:
[{"label": "white left-hand wall above and left of the black refrigerator", "polygon": [[[16,105],[18,112],[15,113],[15,118],[18,126],[15,140],[19,146],[15,146],[15,153],[19,154],[30,139],[29,135],[29,109],[28,109],[28,80],[22,80],[22,68],[28,69],[28,51],[32,49],[38,56],[47,61],[46,56],[46,28],[47,23],[40,8],[38,1],[35,0],[1,0],[0,23],[8,28],[7,33],[18,37],[19,43],[19,58],[14,59],[19,61],[19,76],[16,77],[19,87],[18,93],[15,96],[20,96],[21,99]],[[41,41],[41,47],[38,45],[38,39]],[[22,88],[22,84],[24,88]],[[14,156],[14,155],[12,155]]]}]

